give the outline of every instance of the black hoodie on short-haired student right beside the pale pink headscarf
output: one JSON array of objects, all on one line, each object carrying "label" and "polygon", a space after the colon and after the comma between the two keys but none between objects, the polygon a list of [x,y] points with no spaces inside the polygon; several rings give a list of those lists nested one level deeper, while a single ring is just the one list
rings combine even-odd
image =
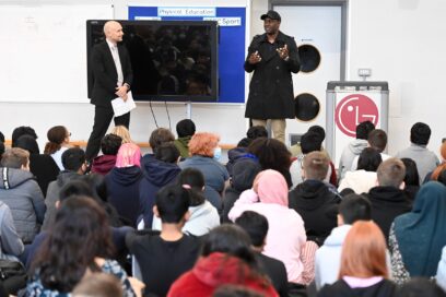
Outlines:
[{"label": "black hoodie on short-haired student right beside the pale pink headscarf", "polygon": [[304,219],[307,240],[319,246],[338,225],[340,198],[320,180],[305,180],[289,194],[290,209]]}]

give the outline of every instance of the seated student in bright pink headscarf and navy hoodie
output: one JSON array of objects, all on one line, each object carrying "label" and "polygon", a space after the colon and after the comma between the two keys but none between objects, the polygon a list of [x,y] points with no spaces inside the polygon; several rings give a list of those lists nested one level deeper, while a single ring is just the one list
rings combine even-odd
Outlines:
[{"label": "seated student in bright pink headscarf and navy hoodie", "polygon": [[126,225],[136,227],[140,215],[141,150],[124,143],[116,156],[116,166],[105,176],[108,202],[115,206]]}]

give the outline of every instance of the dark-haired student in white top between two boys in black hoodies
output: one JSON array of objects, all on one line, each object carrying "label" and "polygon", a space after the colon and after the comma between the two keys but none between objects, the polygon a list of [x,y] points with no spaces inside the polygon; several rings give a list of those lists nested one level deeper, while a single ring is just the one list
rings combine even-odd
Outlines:
[{"label": "dark-haired student in white top between two boys in black hoodies", "polygon": [[376,170],[383,158],[378,151],[372,147],[365,147],[357,161],[357,169],[355,171],[347,171],[344,178],[338,187],[338,191],[352,189],[356,194],[367,193],[376,186]]}]

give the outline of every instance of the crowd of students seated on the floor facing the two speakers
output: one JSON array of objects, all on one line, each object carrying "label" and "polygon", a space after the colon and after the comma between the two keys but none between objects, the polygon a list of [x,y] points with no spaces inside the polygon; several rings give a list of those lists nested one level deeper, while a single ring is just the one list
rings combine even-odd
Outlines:
[{"label": "crowd of students seated on the floor facing the two speakers", "polygon": [[[89,173],[64,127],[48,131],[44,155],[34,129],[14,129],[13,148],[0,152],[0,259],[25,263],[31,278],[17,293],[24,283],[11,290],[2,274],[0,294],[7,285],[19,296],[304,296],[307,287],[308,296],[445,296],[446,144],[436,166],[427,124],[412,127],[397,155],[411,158],[399,159],[383,153],[385,131],[360,123],[339,188],[321,127],[292,147],[297,157],[251,127],[226,167],[219,136],[195,130],[178,122],[175,141],[155,129],[153,153],[141,157],[115,127]],[[0,133],[0,151],[3,142]],[[423,179],[438,182],[420,188]]]}]

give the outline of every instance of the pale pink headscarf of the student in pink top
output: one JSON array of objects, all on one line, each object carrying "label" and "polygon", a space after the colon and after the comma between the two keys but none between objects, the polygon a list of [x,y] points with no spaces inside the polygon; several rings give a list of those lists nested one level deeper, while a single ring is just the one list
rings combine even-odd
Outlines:
[{"label": "pale pink headscarf of the student in pink top", "polygon": [[254,190],[260,202],[289,206],[289,189],[285,178],[278,171],[267,169],[257,175],[254,180]]}]

